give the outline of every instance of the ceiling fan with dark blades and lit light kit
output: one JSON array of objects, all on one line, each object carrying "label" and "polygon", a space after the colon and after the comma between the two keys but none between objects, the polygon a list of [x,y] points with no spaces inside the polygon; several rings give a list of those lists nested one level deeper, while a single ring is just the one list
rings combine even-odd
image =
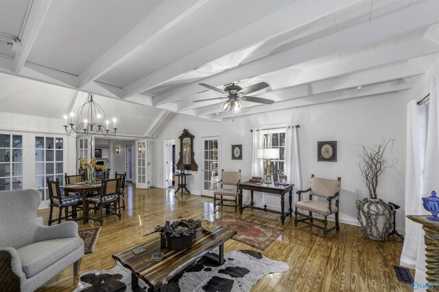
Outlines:
[{"label": "ceiling fan with dark blades and lit light kit", "polygon": [[214,86],[206,83],[199,83],[199,84],[204,86],[205,88],[209,88],[210,90],[214,90],[216,92],[227,94],[227,95],[222,97],[200,99],[198,101],[193,101],[193,102],[199,103],[201,101],[213,101],[215,99],[228,98],[227,101],[222,104],[222,109],[224,109],[224,111],[234,111],[234,112],[239,111],[239,109],[241,109],[241,102],[239,100],[250,101],[252,103],[263,103],[265,105],[271,105],[272,103],[274,103],[274,101],[272,101],[271,99],[246,95],[252,92],[257,92],[264,88],[268,88],[268,86],[270,85],[268,85],[268,83],[265,82],[259,82],[250,85],[244,89],[241,88],[241,86],[232,83],[232,85],[227,85],[226,88],[224,88],[224,90],[220,90],[219,88],[215,88]]}]

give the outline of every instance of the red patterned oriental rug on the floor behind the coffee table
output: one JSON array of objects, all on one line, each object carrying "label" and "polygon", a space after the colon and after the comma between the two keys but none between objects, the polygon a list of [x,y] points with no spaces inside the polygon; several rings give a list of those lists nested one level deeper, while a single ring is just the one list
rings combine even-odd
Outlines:
[{"label": "red patterned oriental rug on the floor behind the coffee table", "polygon": [[224,216],[215,221],[215,224],[237,230],[237,235],[232,239],[246,243],[259,250],[265,248],[275,241],[283,230],[241,220],[231,216]]}]

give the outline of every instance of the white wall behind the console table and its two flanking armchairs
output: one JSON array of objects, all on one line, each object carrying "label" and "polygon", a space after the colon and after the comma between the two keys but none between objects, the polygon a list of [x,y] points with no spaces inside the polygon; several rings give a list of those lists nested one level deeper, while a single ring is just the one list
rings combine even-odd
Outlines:
[{"label": "white wall behind the console table and its two flanking armchairs", "polygon": [[[324,178],[342,178],[340,200],[340,221],[357,225],[355,201],[368,196],[368,190],[356,165],[357,157],[349,149],[349,144],[373,146],[389,138],[396,139],[392,152],[386,152],[388,160],[398,159],[393,168],[385,170],[378,186],[379,198],[385,202],[399,204],[396,226],[403,229],[404,178],[405,178],[405,119],[407,94],[396,93],[382,96],[371,96],[351,101],[327,103],[313,107],[287,109],[268,114],[258,114],[234,118],[217,124],[189,116],[177,115],[158,139],[158,167],[163,167],[163,139],[178,138],[183,129],[195,135],[194,152],[199,166],[198,172],[192,172],[188,179],[189,190],[193,194],[201,191],[200,137],[203,135],[220,135],[221,168],[226,170],[241,169],[243,180],[251,175],[252,133],[254,127],[278,127],[287,124],[300,124],[300,157],[302,163],[302,186],[309,186],[311,174]],[[337,162],[317,161],[318,141],[337,141]],[[178,140],[176,140],[178,142]],[[176,143],[178,155],[179,144]],[[243,159],[231,159],[231,145],[243,144]],[[161,165],[161,166],[160,166]],[[162,174],[163,170],[157,172]],[[163,181],[163,177],[158,178]],[[261,196],[256,202],[261,204]],[[244,200],[248,200],[248,195]],[[272,208],[280,208],[278,198],[265,195],[265,203]]]}]

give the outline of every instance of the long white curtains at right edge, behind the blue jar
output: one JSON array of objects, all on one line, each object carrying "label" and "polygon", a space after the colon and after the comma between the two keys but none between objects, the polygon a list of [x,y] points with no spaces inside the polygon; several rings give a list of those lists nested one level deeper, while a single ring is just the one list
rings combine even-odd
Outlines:
[{"label": "long white curtains at right edge, behind the blue jar", "polygon": [[[414,109],[416,105],[412,102],[412,106],[409,105],[411,110],[407,113],[410,120],[407,119],[406,215],[428,214],[422,207],[421,197],[429,196],[431,191],[439,189],[438,84],[439,75],[436,75],[431,81],[428,107],[420,105]],[[427,282],[424,231],[420,224],[416,224],[406,220],[401,265],[414,268],[415,282],[424,284]]]}]

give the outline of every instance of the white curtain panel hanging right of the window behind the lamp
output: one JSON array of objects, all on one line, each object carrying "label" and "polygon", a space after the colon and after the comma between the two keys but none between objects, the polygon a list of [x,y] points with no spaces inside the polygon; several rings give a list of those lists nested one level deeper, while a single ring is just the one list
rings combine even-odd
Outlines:
[{"label": "white curtain panel hanging right of the window behind the lamp", "polygon": [[302,189],[302,171],[300,168],[298,127],[285,129],[285,163],[284,172],[289,183],[294,183],[295,189]]}]

